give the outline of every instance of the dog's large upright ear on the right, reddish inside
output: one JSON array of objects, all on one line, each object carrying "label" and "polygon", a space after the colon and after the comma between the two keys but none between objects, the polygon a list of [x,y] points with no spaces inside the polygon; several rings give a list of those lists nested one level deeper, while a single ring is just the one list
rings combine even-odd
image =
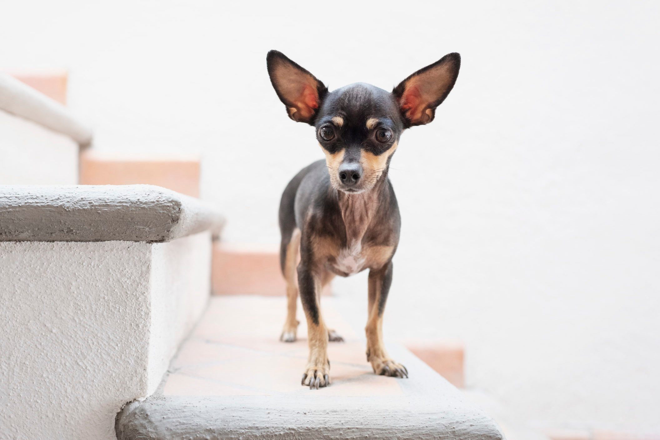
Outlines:
[{"label": "dog's large upright ear on the right, reddish inside", "polygon": [[428,124],[436,116],[436,107],[447,98],[461,67],[461,55],[448,53],[401,81],[392,90],[399,101],[406,127]]}]

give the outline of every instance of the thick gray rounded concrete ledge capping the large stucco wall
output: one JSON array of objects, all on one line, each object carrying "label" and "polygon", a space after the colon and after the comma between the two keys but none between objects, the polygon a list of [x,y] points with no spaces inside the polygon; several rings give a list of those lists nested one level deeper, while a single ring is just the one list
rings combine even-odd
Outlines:
[{"label": "thick gray rounded concrete ledge capping the large stucco wall", "polygon": [[161,242],[222,224],[207,204],[152,185],[0,185],[0,241]]}]

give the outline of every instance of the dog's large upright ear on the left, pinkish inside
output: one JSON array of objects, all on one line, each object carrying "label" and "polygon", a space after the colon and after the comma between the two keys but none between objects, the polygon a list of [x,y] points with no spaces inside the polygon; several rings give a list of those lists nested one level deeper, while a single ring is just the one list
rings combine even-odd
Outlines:
[{"label": "dog's large upright ear on the left, pinkish inside", "polygon": [[273,88],[286,106],[289,117],[296,122],[314,125],[316,111],[328,92],[327,87],[277,50],[269,51],[266,64]]}]

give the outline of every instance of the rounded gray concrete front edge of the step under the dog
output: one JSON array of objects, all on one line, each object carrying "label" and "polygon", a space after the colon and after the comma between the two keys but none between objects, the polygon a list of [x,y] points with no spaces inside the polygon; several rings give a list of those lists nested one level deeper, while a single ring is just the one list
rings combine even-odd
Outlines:
[{"label": "rounded gray concrete front edge of the step under the dog", "polygon": [[444,400],[294,396],[153,397],[117,414],[117,440],[502,440],[478,408]]}]

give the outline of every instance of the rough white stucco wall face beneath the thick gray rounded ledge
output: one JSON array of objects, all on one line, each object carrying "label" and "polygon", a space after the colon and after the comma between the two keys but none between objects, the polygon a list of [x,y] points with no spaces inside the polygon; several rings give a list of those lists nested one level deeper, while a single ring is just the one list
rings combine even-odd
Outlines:
[{"label": "rough white stucco wall face beneath the thick gray rounded ledge", "polygon": [[0,243],[0,438],[114,440],[199,317],[210,256],[208,233]]}]

